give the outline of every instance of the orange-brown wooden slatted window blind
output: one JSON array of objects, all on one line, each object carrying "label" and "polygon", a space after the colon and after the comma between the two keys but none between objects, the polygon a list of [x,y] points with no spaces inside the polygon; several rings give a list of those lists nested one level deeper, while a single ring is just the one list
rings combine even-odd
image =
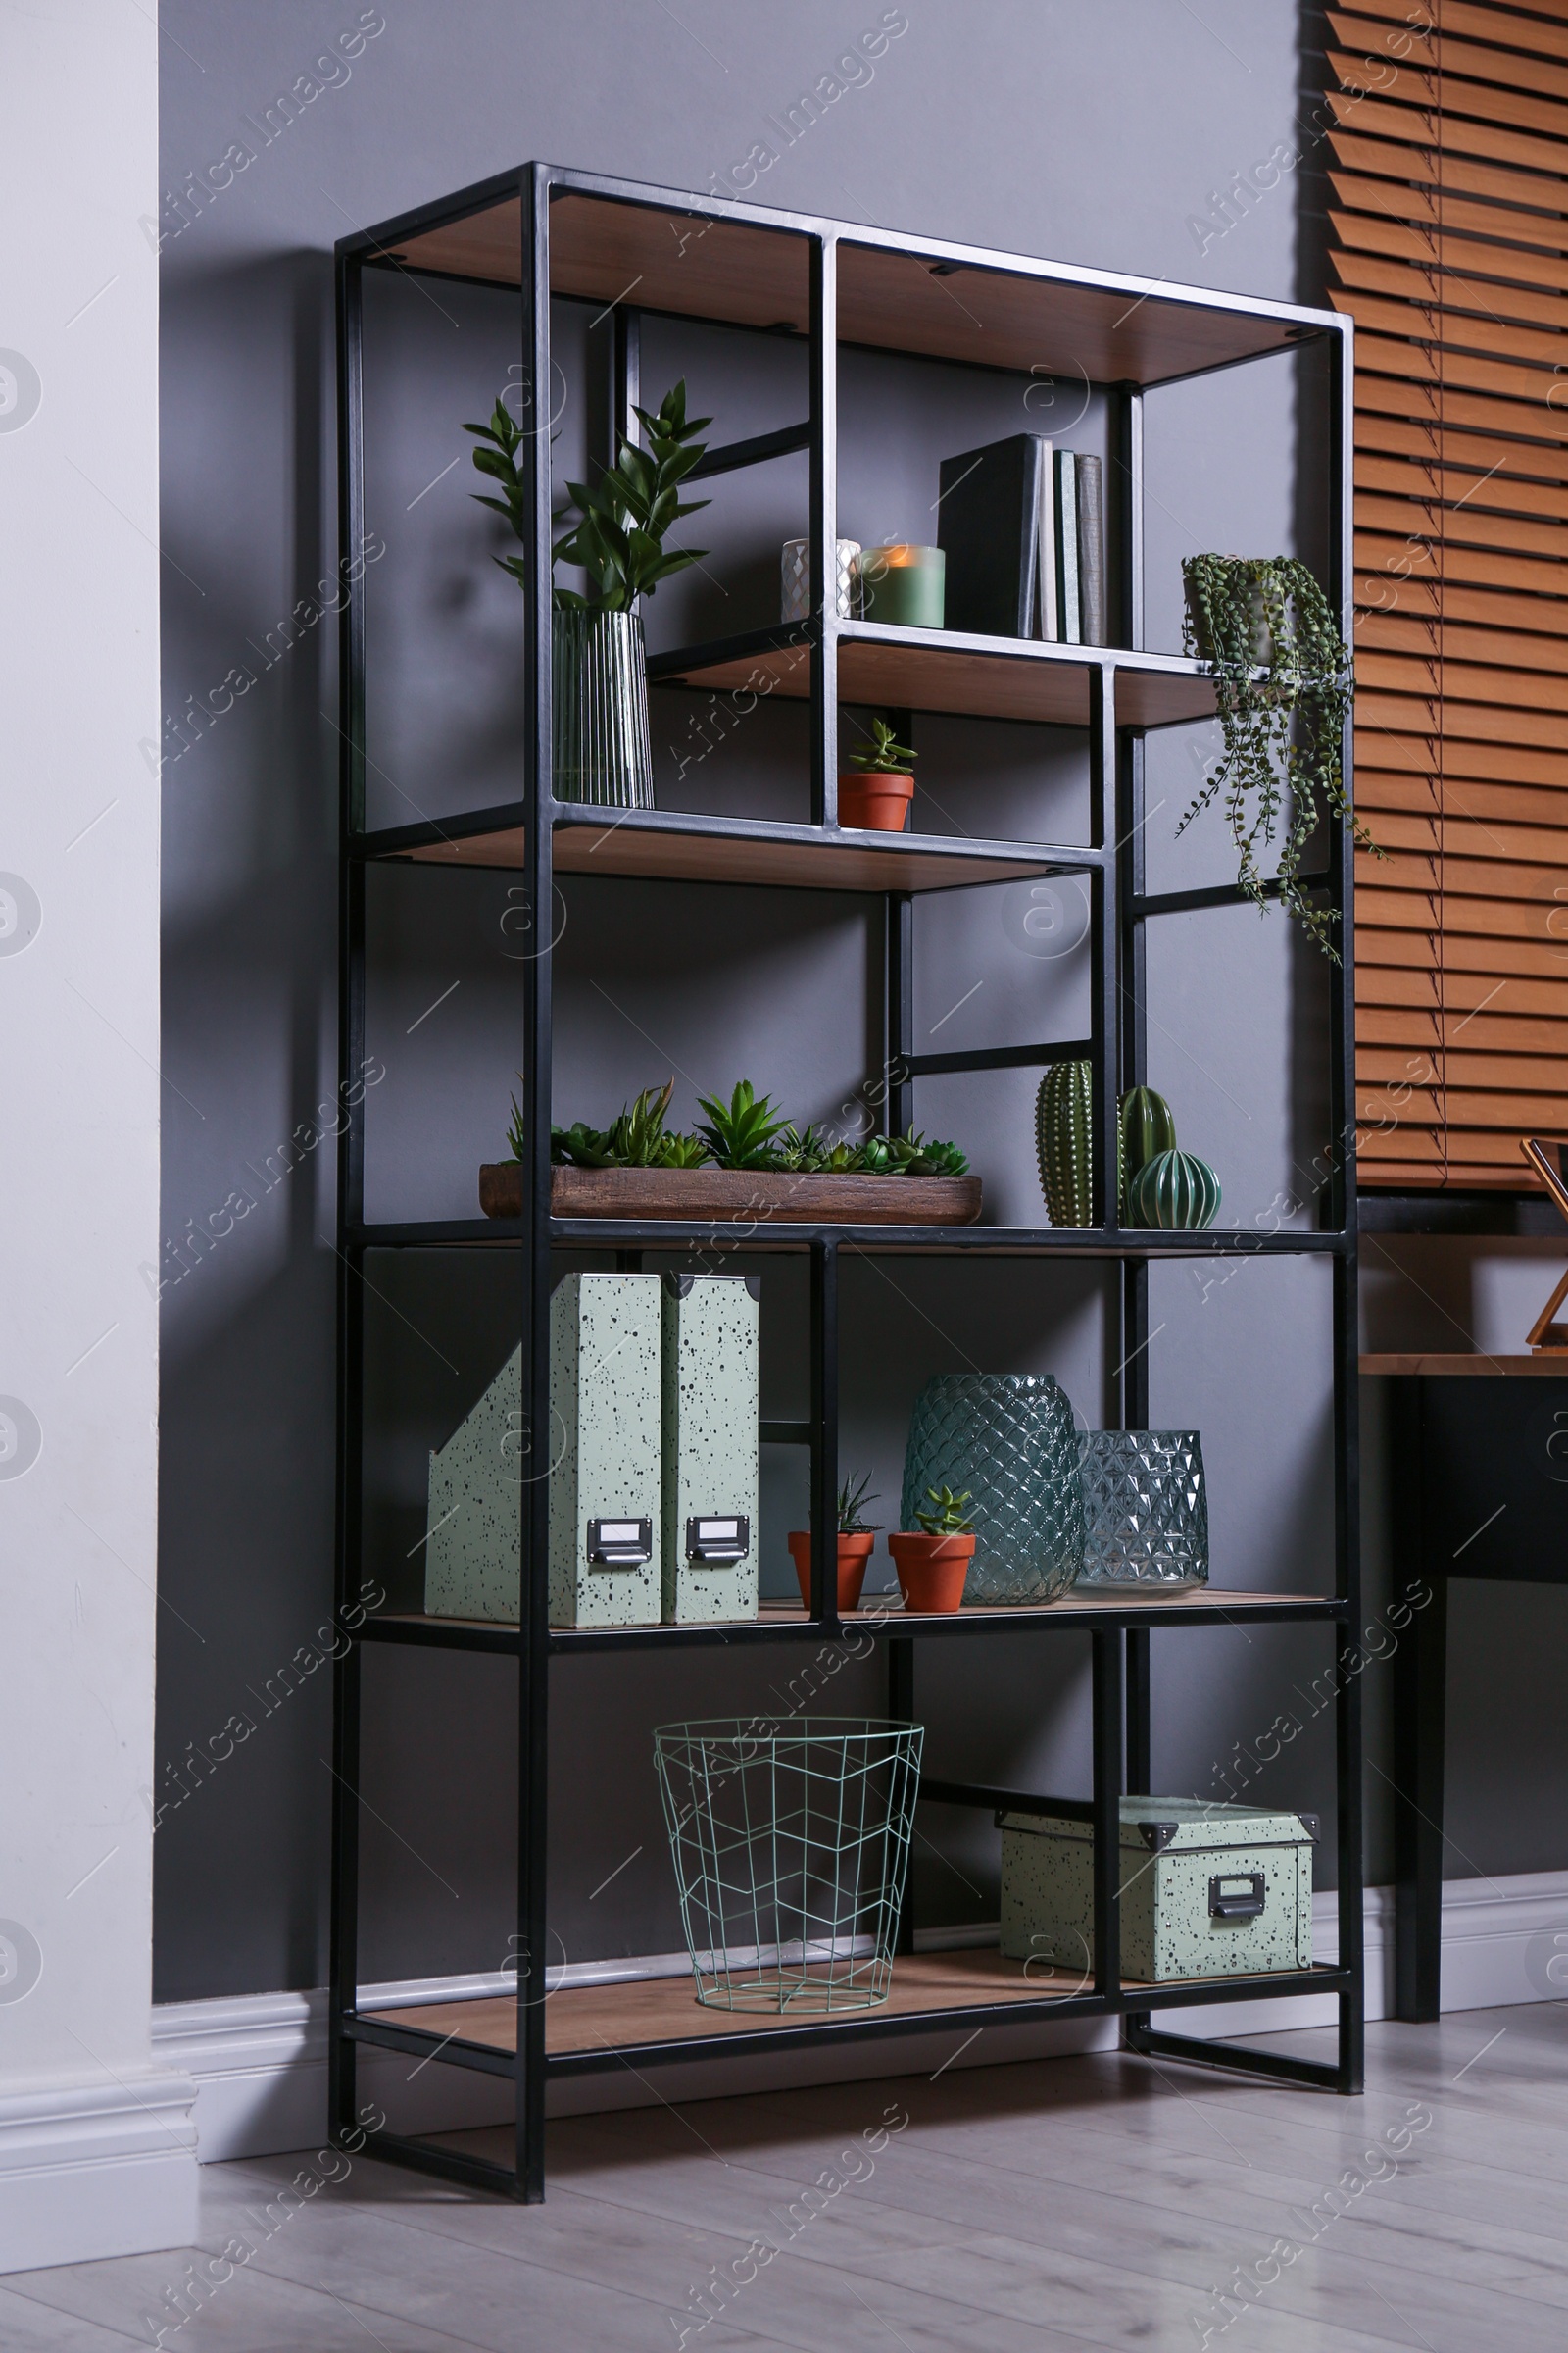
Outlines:
[{"label": "orange-brown wooden slatted window blind", "polygon": [[1366,1186],[1568,1134],[1568,0],[1331,9]]}]

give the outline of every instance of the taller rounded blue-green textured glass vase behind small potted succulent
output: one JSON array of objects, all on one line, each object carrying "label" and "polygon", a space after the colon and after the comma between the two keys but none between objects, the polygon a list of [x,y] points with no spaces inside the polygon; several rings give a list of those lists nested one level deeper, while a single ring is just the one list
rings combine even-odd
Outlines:
[{"label": "taller rounded blue-green textured glass vase behind small potted succulent", "polygon": [[1084,1565],[1084,1497],[1072,1405],[1034,1372],[943,1372],[914,1400],[900,1527],[929,1487],[969,1489],[976,1558],[964,1607],[1053,1602]]}]

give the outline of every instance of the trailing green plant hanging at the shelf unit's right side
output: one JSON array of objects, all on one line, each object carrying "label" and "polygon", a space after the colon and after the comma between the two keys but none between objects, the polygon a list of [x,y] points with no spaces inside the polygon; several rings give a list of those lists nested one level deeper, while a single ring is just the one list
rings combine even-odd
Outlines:
[{"label": "trailing green plant hanging at the shelf unit's right side", "polygon": [[1302,849],[1333,812],[1356,849],[1382,856],[1345,793],[1340,744],[1354,682],[1340,621],[1295,555],[1187,555],[1182,576],[1182,645],[1213,666],[1225,751],[1175,831],[1185,833],[1199,809],[1225,795],[1241,854],[1237,882],[1260,908],[1267,878],[1258,852],[1284,835],[1279,899],[1338,965],[1331,936],[1338,915],[1302,892]]}]

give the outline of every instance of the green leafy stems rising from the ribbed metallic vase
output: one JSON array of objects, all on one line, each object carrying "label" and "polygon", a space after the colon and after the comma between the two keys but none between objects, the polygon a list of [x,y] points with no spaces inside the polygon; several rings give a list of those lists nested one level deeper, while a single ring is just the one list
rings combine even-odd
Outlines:
[{"label": "green leafy stems rising from the ribbed metallic vase", "polygon": [[[646,433],[646,449],[621,435],[621,454],[597,482],[567,482],[567,496],[576,508],[576,520],[555,541],[552,562],[581,565],[588,572],[588,595],[576,588],[557,588],[555,605],[578,612],[630,612],[639,595],[651,595],[658,581],[672,572],[684,572],[708,548],[670,548],[665,534],[682,515],[696,515],[708,499],[679,499],[679,485],[705,452],[696,435],[712,416],[686,416],[686,379],[672,386],[656,412],[637,409]],[[522,449],[522,426],[510,409],[496,400],[489,424],[463,426],[480,447],[473,461],[480,473],[501,485],[501,496],[491,499],[475,489],[480,506],[503,515],[524,548],[529,541],[529,501],[522,482],[517,452]],[[510,572],[520,588],[527,588],[529,567],[524,555],[496,555],[503,572]]]}]

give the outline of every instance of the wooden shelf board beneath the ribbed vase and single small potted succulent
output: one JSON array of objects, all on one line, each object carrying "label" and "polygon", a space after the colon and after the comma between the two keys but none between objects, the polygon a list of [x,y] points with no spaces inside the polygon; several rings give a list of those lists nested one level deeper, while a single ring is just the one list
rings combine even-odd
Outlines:
[{"label": "wooden shelf board beneath the ribbed vase and single small potted succulent", "polygon": [[[475,819],[463,819],[475,826]],[[423,835],[404,842],[404,833]],[[524,828],[477,821],[430,838],[430,826],[369,835],[367,854],[416,866],[522,868]],[[378,840],[386,847],[378,847]],[[769,889],[971,889],[1027,875],[1093,866],[1086,849],[1032,849],[1023,842],[966,842],[938,833],[825,833],[820,826],[762,826],[745,819],[684,816],[679,809],[557,809],[555,871],[642,875],[658,882],[752,882]]]}]

